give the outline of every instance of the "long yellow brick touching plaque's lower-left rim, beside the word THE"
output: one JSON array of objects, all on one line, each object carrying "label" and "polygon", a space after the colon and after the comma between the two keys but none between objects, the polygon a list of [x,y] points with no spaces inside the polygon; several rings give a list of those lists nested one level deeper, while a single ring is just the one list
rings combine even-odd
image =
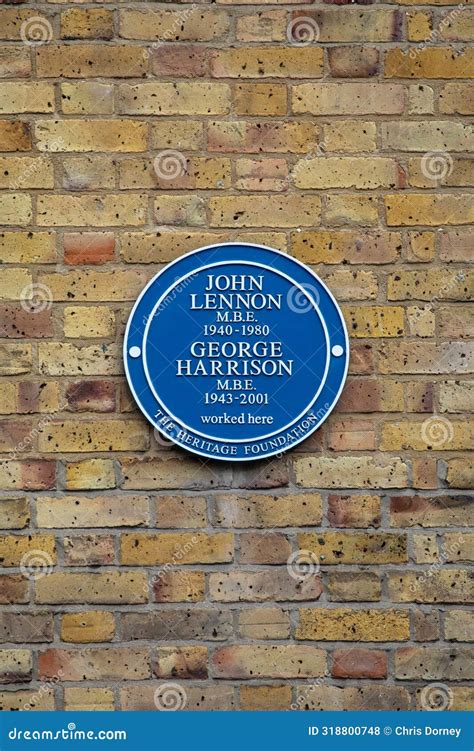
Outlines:
[{"label": "long yellow brick touching plaque's lower-left rim, beside the word THE", "polygon": [[142,420],[65,420],[49,423],[38,437],[38,449],[45,453],[143,451],[148,443],[148,427]]}]

